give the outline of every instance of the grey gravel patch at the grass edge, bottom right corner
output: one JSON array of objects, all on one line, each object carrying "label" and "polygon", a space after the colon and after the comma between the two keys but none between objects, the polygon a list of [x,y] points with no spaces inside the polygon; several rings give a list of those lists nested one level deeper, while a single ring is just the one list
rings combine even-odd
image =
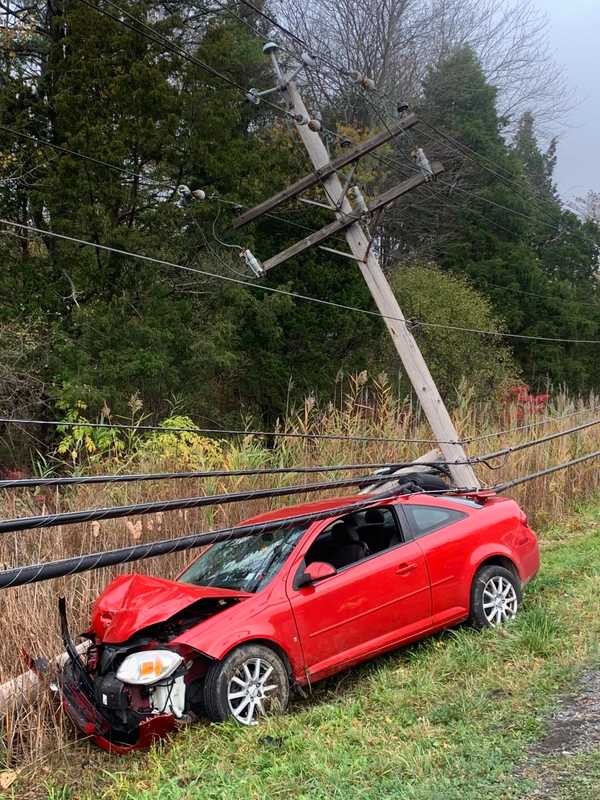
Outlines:
[{"label": "grey gravel patch at the grass edge, bottom right corner", "polygon": [[527,800],[598,800],[600,780],[590,766],[599,755],[600,670],[589,670],[550,717],[544,737],[529,748],[522,776],[535,788]]}]

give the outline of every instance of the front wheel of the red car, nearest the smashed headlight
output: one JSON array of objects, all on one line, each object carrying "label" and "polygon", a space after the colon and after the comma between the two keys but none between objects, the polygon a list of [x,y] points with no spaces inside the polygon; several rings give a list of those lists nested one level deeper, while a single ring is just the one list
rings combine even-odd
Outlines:
[{"label": "front wheel of the red car, nearest the smashed headlight", "polygon": [[213,722],[257,725],[261,716],[285,711],[289,694],[288,673],[277,653],[259,644],[241,645],[209,667],[204,710]]}]

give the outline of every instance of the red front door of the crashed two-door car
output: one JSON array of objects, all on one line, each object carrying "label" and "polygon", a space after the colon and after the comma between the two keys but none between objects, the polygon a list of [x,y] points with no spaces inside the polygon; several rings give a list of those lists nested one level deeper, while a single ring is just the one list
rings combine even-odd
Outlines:
[{"label": "red front door of the crashed two-door car", "polygon": [[397,540],[310,586],[294,586],[302,561],[291,570],[287,593],[309,677],[325,677],[431,626],[423,553],[399,527]]}]

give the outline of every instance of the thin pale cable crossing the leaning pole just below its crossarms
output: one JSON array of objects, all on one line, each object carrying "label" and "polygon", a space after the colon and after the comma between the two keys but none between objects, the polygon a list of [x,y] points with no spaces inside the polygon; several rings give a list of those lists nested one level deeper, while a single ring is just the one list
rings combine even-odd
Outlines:
[{"label": "thin pale cable crossing the leaning pole just below its crossarms", "polygon": [[146,256],[141,253],[132,253],[128,250],[121,250],[120,248],[110,247],[105,244],[98,244],[96,242],[89,242],[85,239],[78,239],[74,236],[67,236],[66,234],[62,233],[55,233],[54,231],[45,230],[44,228],[36,228],[33,225],[25,225],[22,222],[13,222],[12,220],[7,220],[0,218],[0,223],[5,225],[11,225],[13,227],[19,228],[21,230],[29,230],[34,233],[39,233],[42,236],[51,236],[55,239],[62,239],[64,241],[73,242],[75,244],[84,245],[86,247],[93,247],[97,250],[103,250],[109,253],[116,253],[117,255],[126,256],[127,258],[137,258],[142,261],[147,261],[153,264],[159,264],[161,266],[172,267],[174,269],[179,269],[184,272],[192,272],[198,275],[203,275],[207,278],[216,278],[217,280],[226,281],[229,283],[235,283],[241,286],[249,286],[253,289],[259,289],[265,292],[271,292],[273,294],[280,294],[285,295],[287,297],[293,297],[297,300],[303,300],[309,303],[317,303],[319,305],[325,305],[332,308],[340,308],[344,311],[352,311],[358,314],[366,314],[372,317],[378,317],[380,319],[393,319],[398,322],[402,322],[403,324],[409,325],[419,325],[423,328],[435,328],[435,329],[445,329],[445,330],[452,330],[459,333],[474,333],[479,334],[481,336],[496,336],[500,338],[509,338],[509,339],[527,339],[531,341],[542,341],[542,342],[556,342],[556,343],[568,343],[568,344],[600,344],[600,340],[597,339],[568,339],[568,338],[560,338],[560,337],[551,337],[551,336],[534,336],[528,335],[524,333],[509,333],[506,331],[488,331],[479,328],[468,328],[459,325],[445,325],[442,323],[437,322],[424,322],[422,320],[406,320],[401,319],[400,317],[393,317],[386,314],[381,314],[379,311],[372,311],[367,308],[360,308],[359,306],[350,306],[345,305],[343,303],[336,303],[333,300],[323,300],[319,297],[311,297],[309,295],[299,294],[298,292],[290,292],[286,291],[285,289],[278,289],[273,286],[265,286],[264,284],[260,283],[252,283],[251,281],[246,281],[241,278],[233,278],[229,275],[219,275],[214,272],[208,272],[207,270],[198,269],[196,267],[189,267],[183,264],[177,264],[173,261],[166,261],[160,258],[154,258],[153,256]]}]

